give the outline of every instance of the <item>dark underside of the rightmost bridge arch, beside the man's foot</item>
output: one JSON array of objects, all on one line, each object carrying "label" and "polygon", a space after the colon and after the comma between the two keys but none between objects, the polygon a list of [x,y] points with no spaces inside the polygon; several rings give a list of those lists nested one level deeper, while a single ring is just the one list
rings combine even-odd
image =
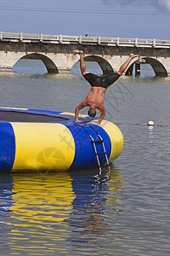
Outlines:
[{"label": "dark underside of the rightmost bridge arch, beside the man's foot", "polygon": [[132,75],[133,74],[133,66],[135,65],[135,75],[138,75],[140,73],[140,65],[141,64],[150,64],[150,66],[153,68],[156,77],[167,77],[167,70],[166,68],[161,64],[160,61],[150,58],[150,57],[142,57],[137,61],[134,61],[130,67],[127,68],[126,75]]}]

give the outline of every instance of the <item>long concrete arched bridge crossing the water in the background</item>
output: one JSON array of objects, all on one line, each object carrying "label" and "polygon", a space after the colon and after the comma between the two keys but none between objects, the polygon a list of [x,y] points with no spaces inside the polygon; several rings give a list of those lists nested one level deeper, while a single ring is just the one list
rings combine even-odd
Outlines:
[{"label": "long concrete arched bridge crossing the water in the background", "polygon": [[42,60],[48,73],[70,73],[79,60],[74,49],[99,63],[104,74],[118,70],[130,53],[139,54],[125,74],[140,74],[140,65],[150,64],[156,76],[170,75],[170,40],[101,38],[0,32],[0,71],[12,71],[21,58]]}]

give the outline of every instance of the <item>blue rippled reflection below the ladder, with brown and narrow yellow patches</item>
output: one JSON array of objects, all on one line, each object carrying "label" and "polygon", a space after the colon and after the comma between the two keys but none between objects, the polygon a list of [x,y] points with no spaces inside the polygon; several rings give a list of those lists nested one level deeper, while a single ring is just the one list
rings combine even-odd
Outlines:
[{"label": "blue rippled reflection below the ladder, with brown and narrow yellow patches", "polygon": [[[114,218],[116,211],[120,212],[117,206],[121,202],[119,191],[123,182],[120,170],[112,167],[110,174],[102,172],[101,176],[92,171],[88,175],[87,172],[79,176],[77,172],[70,174],[73,191],[77,195],[72,202],[76,214],[72,212],[71,218],[66,220],[73,229],[70,240],[77,246],[75,252],[82,253],[86,247],[88,253],[95,253],[99,243],[96,238],[104,241],[109,230],[108,220],[111,217],[108,214]],[[87,249],[87,242],[93,246]]]}]

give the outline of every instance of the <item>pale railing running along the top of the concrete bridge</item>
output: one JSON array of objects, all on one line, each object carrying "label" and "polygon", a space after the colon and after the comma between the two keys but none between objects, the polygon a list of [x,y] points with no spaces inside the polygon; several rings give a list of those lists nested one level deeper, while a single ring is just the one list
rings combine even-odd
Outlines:
[{"label": "pale railing running along the top of the concrete bridge", "polygon": [[0,32],[0,41],[49,44],[103,44],[108,46],[170,48],[170,40],[142,38],[104,38]]}]

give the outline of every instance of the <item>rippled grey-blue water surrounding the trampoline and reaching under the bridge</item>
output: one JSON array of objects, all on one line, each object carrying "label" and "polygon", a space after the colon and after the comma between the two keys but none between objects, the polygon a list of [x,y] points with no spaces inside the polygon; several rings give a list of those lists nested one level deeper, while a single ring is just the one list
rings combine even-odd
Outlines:
[{"label": "rippled grey-blue water surrounding the trampoline and reaching under the bridge", "polygon": [[[90,90],[78,65],[47,74],[19,61],[0,73],[1,106],[74,112]],[[105,119],[124,137],[110,174],[0,173],[0,255],[170,255],[169,82],[143,65],[107,90]]]}]

